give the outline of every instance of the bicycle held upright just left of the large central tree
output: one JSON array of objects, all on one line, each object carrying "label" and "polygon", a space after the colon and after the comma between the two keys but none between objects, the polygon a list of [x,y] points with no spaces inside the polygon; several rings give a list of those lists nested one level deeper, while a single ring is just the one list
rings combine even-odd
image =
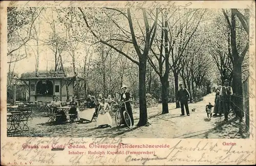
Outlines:
[{"label": "bicycle held upright just left of the large central tree", "polygon": [[122,113],[122,110],[121,110],[121,104],[124,103],[124,107],[125,107],[125,110],[123,111],[123,117],[124,117],[124,121],[127,125],[127,127],[129,128],[132,128],[132,120],[131,120],[131,117],[130,115],[128,114],[127,112],[127,108],[126,108],[126,102],[130,102],[131,100],[127,100],[127,101],[124,101],[124,102],[120,102],[119,103],[119,110],[116,112],[116,115],[115,115],[115,121],[116,121],[116,125],[117,126],[121,126],[122,124],[122,116],[121,116],[121,113]]}]

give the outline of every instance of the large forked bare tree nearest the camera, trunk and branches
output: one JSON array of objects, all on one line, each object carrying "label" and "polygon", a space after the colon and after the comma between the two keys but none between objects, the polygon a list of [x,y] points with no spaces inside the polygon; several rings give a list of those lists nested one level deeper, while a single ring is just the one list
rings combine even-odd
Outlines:
[{"label": "large forked bare tree nearest the camera, trunk and branches", "polygon": [[137,53],[138,59],[139,61],[134,60],[131,56],[129,56],[128,54],[124,53],[121,49],[118,49],[117,47],[115,47],[114,45],[110,44],[109,41],[104,41],[103,39],[100,39],[95,32],[91,29],[91,26],[89,25],[86,15],[84,14],[83,10],[79,7],[78,8],[80,10],[80,12],[82,13],[83,19],[86,22],[87,27],[89,28],[89,30],[91,31],[91,33],[93,34],[94,37],[96,37],[98,39],[99,42],[111,47],[112,49],[116,50],[117,52],[119,52],[120,54],[122,54],[123,56],[125,56],[127,59],[129,59],[130,61],[132,61],[133,63],[137,64],[139,66],[139,101],[140,101],[140,119],[139,119],[139,123],[137,124],[137,126],[145,126],[148,125],[147,123],[147,109],[146,109],[146,91],[145,91],[145,71],[146,71],[146,61],[147,61],[147,56],[148,56],[148,52],[150,51],[150,48],[153,44],[153,40],[155,38],[156,35],[156,30],[157,30],[157,22],[158,22],[158,9],[156,9],[156,17],[155,17],[155,21],[152,25],[152,27],[150,28],[150,25],[148,23],[148,18],[147,18],[147,14],[146,14],[146,9],[141,9],[142,13],[143,13],[143,20],[144,20],[144,26],[145,26],[145,42],[144,42],[144,48],[141,49],[140,45],[138,44],[138,39],[135,35],[135,31],[134,31],[134,23],[132,21],[132,16],[131,16],[131,9],[127,8],[127,13],[122,12],[121,10],[118,9],[111,9],[113,11],[117,11],[118,13],[120,13],[121,15],[124,16],[124,18],[126,18],[126,20],[129,23],[129,27],[130,27],[130,32],[127,30],[122,29],[114,20],[113,23],[116,24],[116,26],[124,33],[124,35],[127,35],[127,33],[129,35],[132,36],[132,41],[125,41],[122,39],[111,39],[111,40],[115,40],[115,41],[120,41],[120,42],[124,42],[124,43],[131,43],[134,46],[134,49]]}]

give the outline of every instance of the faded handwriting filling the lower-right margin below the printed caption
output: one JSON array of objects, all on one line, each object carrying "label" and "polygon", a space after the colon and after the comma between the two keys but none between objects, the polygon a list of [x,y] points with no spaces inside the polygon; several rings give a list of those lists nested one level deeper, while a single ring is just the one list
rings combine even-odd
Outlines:
[{"label": "faded handwriting filling the lower-right margin below the printed caption", "polygon": [[[207,164],[244,164],[254,162],[254,160],[248,159],[249,156],[255,155],[254,151],[237,151],[233,150],[233,146],[228,148],[218,148],[217,143],[214,145],[209,143],[202,144],[201,141],[195,146],[187,146],[185,144],[186,142],[182,144],[182,141],[179,141],[175,146],[169,149],[169,152],[165,156],[158,156],[155,154],[152,157],[135,157],[129,155],[125,158],[125,161],[140,161],[143,165],[152,160],[163,160],[163,162],[166,161],[166,163],[181,161],[182,163],[205,162]],[[198,152],[201,152],[201,154]],[[206,155],[209,152],[214,157]]]}]

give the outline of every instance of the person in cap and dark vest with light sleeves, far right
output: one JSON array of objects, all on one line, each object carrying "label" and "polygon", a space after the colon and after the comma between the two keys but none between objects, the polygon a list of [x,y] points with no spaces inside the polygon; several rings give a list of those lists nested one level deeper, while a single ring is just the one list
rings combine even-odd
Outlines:
[{"label": "person in cap and dark vest with light sleeves, far right", "polygon": [[224,80],[224,87],[220,90],[221,100],[223,104],[223,111],[225,116],[225,121],[228,120],[228,114],[230,110],[230,102],[231,102],[231,96],[233,95],[232,87],[229,86],[229,80]]}]

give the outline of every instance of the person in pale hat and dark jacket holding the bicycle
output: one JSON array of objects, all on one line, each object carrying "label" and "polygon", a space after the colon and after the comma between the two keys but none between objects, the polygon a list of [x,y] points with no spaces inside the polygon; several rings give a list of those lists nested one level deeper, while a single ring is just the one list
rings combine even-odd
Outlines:
[{"label": "person in pale hat and dark jacket holding the bicycle", "polygon": [[[124,102],[123,105],[121,106],[121,110],[122,110],[122,113],[123,113],[123,111],[125,110],[125,105],[126,105],[126,109],[127,109],[128,114],[131,117],[132,126],[133,126],[134,125],[133,112],[132,112],[131,103],[129,101],[131,96],[130,96],[130,93],[127,92],[127,86],[122,86],[121,89],[122,89],[121,102]],[[127,101],[127,102],[125,102],[125,101]],[[122,122],[124,123],[124,125],[126,125],[125,122],[124,122],[123,114],[121,114],[121,116],[122,116]]]}]

